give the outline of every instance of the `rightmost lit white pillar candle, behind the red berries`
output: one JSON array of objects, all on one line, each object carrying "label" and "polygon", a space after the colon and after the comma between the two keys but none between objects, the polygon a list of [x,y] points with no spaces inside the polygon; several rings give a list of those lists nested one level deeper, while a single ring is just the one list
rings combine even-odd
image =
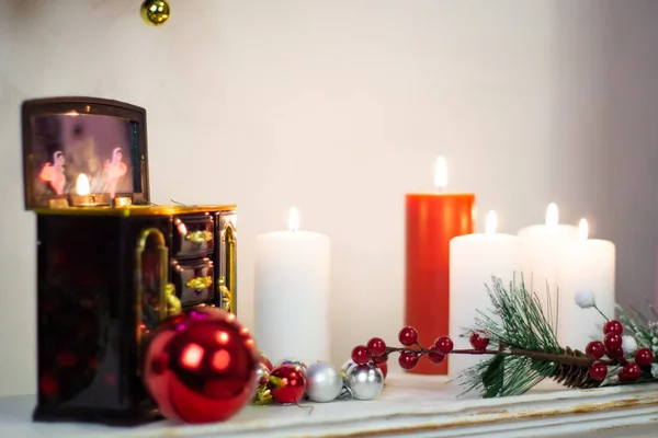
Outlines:
[{"label": "rightmost lit white pillar candle, behind the red berries", "polygon": [[590,290],[597,307],[605,316],[614,318],[615,246],[608,240],[588,239],[588,224],[580,221],[580,239],[561,247],[557,268],[559,314],[557,339],[560,345],[585,351],[592,336],[602,337],[603,316],[595,309],[581,309],[576,292]]}]

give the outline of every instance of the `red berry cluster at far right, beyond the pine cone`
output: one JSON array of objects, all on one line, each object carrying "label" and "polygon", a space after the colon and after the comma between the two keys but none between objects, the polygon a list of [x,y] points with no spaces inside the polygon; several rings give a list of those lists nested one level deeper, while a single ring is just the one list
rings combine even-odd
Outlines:
[{"label": "red berry cluster at far right, beyond the pine cone", "polygon": [[642,377],[643,368],[650,367],[654,362],[654,354],[648,348],[638,349],[635,353],[635,361],[626,360],[622,349],[622,333],[624,333],[624,326],[621,322],[608,321],[603,325],[603,342],[592,341],[587,345],[586,355],[594,359],[589,369],[592,379],[603,380],[608,376],[608,365],[612,362],[602,360],[603,356],[608,356],[610,360],[623,366],[617,374],[620,382],[636,381]]}]

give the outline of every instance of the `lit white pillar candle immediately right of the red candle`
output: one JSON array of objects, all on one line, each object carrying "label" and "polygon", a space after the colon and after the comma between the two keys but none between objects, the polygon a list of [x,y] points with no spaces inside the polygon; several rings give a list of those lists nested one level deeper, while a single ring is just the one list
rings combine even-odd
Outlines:
[{"label": "lit white pillar candle immediately right of the red candle", "polygon": [[[489,211],[484,234],[467,234],[450,241],[450,337],[455,349],[472,348],[468,337],[460,337],[475,325],[477,309],[488,309],[486,285],[496,276],[509,284],[521,269],[520,240],[496,232],[497,217]],[[519,279],[519,278],[518,278]],[[440,334],[438,334],[440,335]],[[476,355],[451,355],[450,379],[486,359]]]}]

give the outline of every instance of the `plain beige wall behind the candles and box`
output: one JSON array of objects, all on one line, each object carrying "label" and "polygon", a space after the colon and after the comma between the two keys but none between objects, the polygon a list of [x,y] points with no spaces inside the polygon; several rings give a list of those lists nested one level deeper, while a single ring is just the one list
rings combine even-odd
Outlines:
[{"label": "plain beige wall behind the candles and box", "polygon": [[170,0],[159,28],[139,3],[0,0],[0,394],[35,390],[32,97],[145,106],[154,200],[239,205],[247,325],[254,238],[297,206],[332,241],[336,364],[397,336],[404,194],[431,189],[438,154],[502,231],[549,201],[588,217],[617,244],[620,300],[654,298],[658,2]]}]

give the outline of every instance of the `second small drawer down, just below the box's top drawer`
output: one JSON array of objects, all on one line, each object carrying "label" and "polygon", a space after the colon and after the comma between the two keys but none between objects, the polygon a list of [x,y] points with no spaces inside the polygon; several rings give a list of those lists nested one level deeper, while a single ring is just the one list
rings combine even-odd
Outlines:
[{"label": "second small drawer down, just below the box's top drawer", "polygon": [[181,304],[191,306],[211,301],[215,295],[213,261],[172,261],[172,283]]}]

